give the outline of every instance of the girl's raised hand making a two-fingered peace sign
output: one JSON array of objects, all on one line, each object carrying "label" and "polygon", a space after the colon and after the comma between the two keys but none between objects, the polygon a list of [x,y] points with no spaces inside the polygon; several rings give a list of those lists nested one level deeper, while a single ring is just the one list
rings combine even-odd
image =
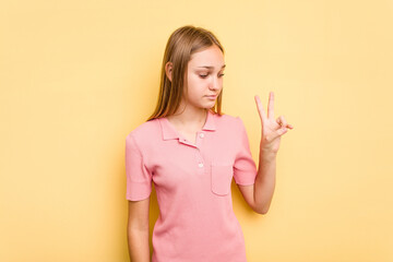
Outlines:
[{"label": "girl's raised hand making a two-fingered peace sign", "polygon": [[274,93],[270,92],[267,116],[262,107],[260,97],[255,96],[258,112],[262,122],[261,150],[277,154],[281,136],[287,132],[287,128],[293,129],[283,116],[274,119]]}]

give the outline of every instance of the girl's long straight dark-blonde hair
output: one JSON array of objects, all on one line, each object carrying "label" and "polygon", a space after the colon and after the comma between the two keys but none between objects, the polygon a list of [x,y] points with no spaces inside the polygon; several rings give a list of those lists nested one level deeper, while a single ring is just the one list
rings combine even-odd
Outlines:
[{"label": "girl's long straight dark-blonde hair", "polygon": [[[187,69],[191,55],[207,47],[216,45],[224,55],[224,48],[217,37],[210,31],[186,25],[177,28],[169,37],[165,48],[159,94],[156,108],[147,121],[155,118],[174,115],[180,106],[183,95],[183,85],[187,83]],[[166,75],[165,66],[167,62],[172,63],[171,82]],[[187,87],[187,85],[186,85]],[[223,90],[217,96],[217,102],[211,110],[222,112]]]}]

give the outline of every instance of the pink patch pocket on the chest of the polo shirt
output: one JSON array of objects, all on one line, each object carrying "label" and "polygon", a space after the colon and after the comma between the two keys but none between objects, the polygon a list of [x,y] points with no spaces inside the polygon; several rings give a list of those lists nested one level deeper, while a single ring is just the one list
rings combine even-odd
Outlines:
[{"label": "pink patch pocket on the chest of the polo shirt", "polygon": [[218,195],[230,192],[230,182],[234,175],[231,164],[212,163],[212,191]]}]

